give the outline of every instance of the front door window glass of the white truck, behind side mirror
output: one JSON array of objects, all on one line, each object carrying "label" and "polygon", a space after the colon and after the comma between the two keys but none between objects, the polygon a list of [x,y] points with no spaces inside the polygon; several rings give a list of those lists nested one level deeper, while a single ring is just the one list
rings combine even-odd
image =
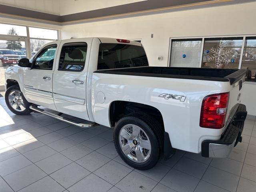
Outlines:
[{"label": "front door window glass of the white truck, behind side mirror", "polygon": [[33,68],[52,69],[56,48],[57,45],[50,45],[44,48],[34,59]]}]

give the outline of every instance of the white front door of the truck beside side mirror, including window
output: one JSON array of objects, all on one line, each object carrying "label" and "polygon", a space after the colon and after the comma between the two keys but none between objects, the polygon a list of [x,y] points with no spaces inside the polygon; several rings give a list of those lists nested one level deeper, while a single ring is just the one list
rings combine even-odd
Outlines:
[{"label": "white front door of the truck beside side mirror, including window", "polygon": [[56,110],[52,97],[52,75],[57,44],[40,50],[32,59],[32,68],[24,70],[24,95],[28,102]]}]

